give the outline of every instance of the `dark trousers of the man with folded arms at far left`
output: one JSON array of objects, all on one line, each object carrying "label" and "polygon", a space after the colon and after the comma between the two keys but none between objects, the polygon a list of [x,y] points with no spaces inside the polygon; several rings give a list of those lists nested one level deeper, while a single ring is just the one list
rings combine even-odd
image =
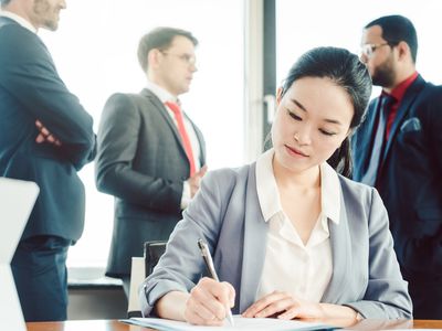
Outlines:
[{"label": "dark trousers of the man with folded arms at far left", "polygon": [[19,243],[11,268],[27,322],[66,320],[71,243],[56,236],[35,236]]}]

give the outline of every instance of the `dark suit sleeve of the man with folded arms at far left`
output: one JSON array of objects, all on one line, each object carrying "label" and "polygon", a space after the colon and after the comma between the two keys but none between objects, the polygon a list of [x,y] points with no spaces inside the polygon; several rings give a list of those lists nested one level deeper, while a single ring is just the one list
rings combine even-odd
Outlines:
[{"label": "dark suit sleeve of the man with folded arms at far left", "polygon": [[67,90],[36,35],[17,24],[0,33],[0,85],[60,139],[62,146],[52,148],[80,170],[95,157],[92,117]]}]

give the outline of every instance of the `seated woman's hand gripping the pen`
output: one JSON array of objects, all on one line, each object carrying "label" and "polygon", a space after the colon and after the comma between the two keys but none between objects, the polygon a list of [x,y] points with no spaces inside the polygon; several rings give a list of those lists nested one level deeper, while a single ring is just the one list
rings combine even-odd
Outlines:
[{"label": "seated woman's hand gripping the pen", "polygon": [[229,282],[201,278],[186,302],[185,319],[191,324],[222,325],[234,306],[235,290]]}]

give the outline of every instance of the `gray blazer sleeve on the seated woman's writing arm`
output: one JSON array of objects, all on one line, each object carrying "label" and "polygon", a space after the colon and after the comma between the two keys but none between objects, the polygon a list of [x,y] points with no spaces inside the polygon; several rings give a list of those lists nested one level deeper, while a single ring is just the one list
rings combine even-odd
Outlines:
[{"label": "gray blazer sleeve on the seated woman's writing arm", "polygon": [[225,172],[221,175],[215,173],[210,172],[203,178],[200,191],[172,232],[165,255],[141,284],[139,300],[143,316],[151,316],[156,301],[167,292],[190,291],[204,273],[197,242],[203,238],[213,254],[225,204],[232,192],[230,177],[223,175]]}]

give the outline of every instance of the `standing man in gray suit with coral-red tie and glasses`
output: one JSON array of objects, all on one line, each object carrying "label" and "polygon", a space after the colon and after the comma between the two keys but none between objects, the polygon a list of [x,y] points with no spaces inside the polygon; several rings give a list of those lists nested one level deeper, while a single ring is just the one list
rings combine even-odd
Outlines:
[{"label": "standing man in gray suit with coral-red tie and glasses", "polygon": [[178,100],[197,71],[197,44],[179,29],[144,35],[138,60],[147,87],[110,96],[102,114],[96,185],[115,196],[106,275],[123,280],[126,296],[131,257],[146,241],[168,239],[207,170],[202,134]]}]

